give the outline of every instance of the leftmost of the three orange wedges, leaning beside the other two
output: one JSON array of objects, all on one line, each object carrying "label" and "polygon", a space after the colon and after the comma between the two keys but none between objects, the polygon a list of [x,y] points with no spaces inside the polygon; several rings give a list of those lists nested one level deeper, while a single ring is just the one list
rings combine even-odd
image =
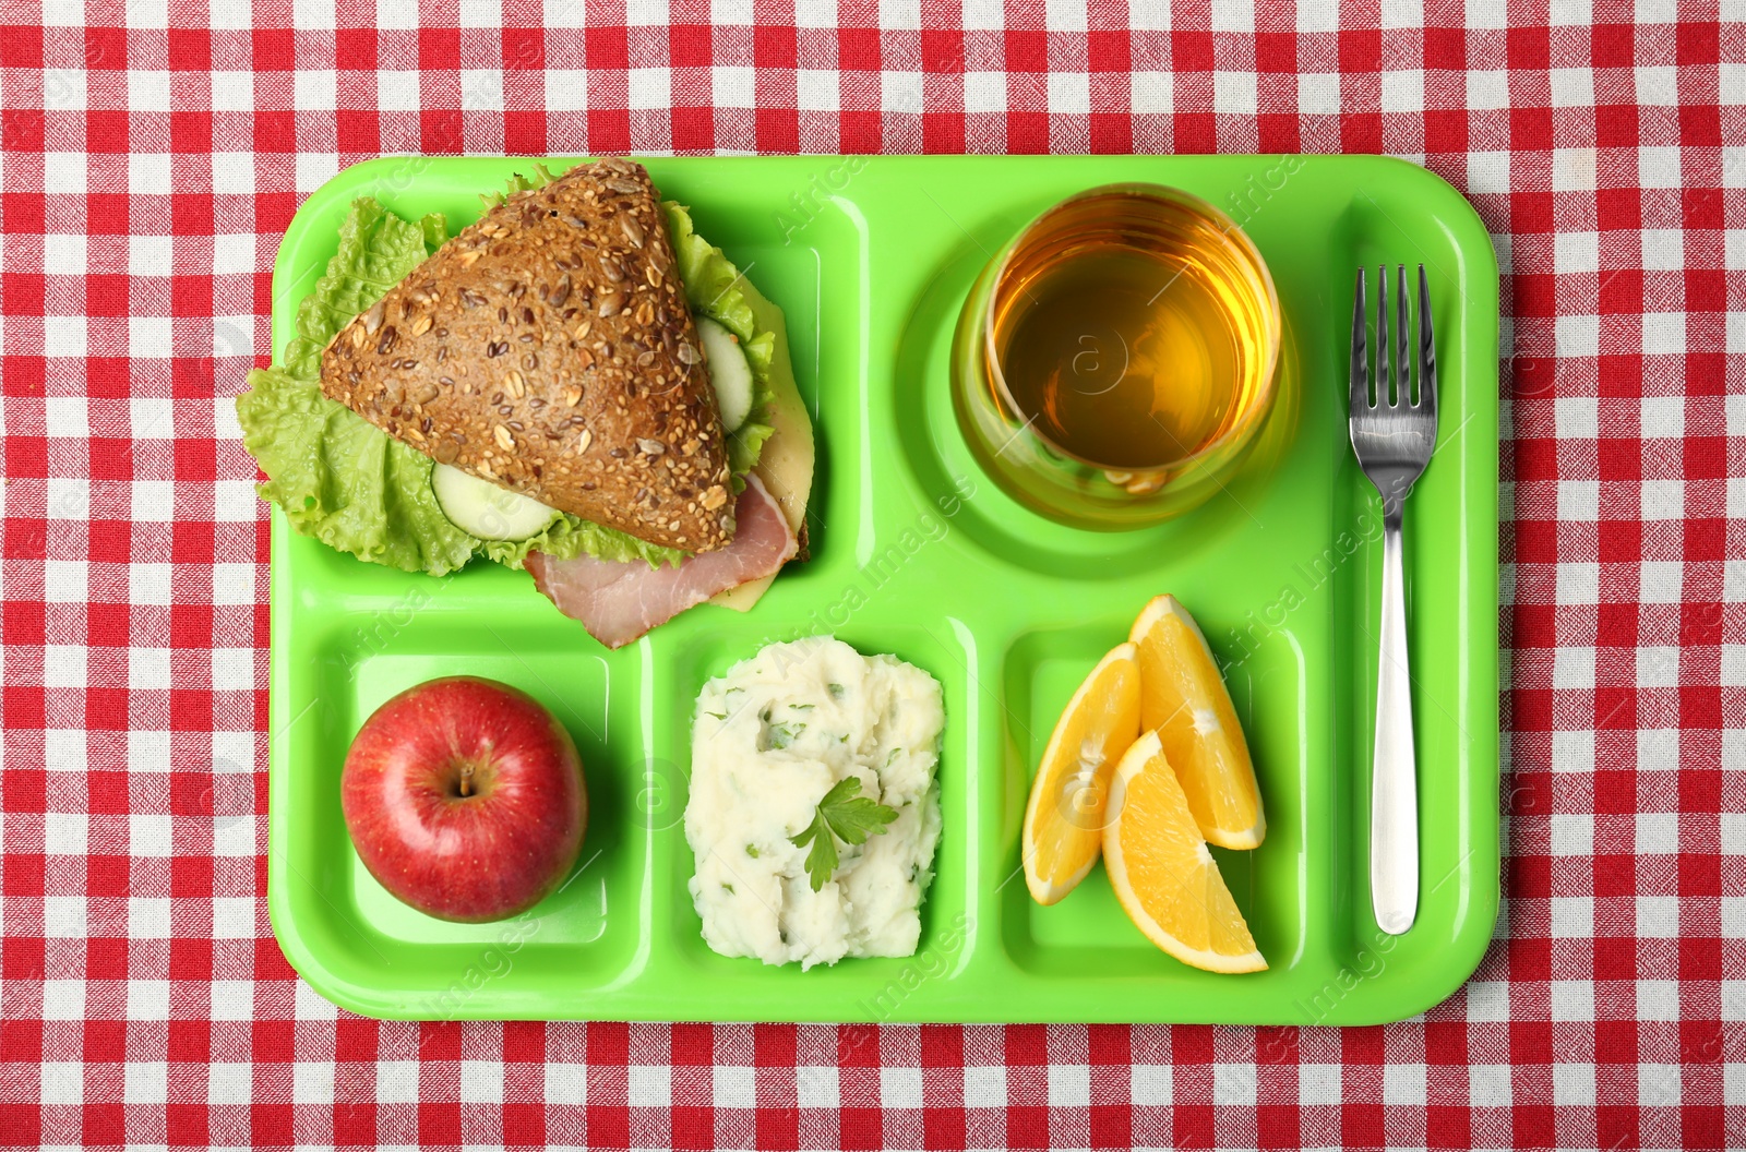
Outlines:
[{"label": "leftmost of the three orange wedges, leaning beside the other two", "polygon": [[1140,735],[1133,644],[1098,662],[1055,724],[1025,805],[1025,885],[1053,904],[1086,878],[1103,843],[1103,801],[1116,761]]}]

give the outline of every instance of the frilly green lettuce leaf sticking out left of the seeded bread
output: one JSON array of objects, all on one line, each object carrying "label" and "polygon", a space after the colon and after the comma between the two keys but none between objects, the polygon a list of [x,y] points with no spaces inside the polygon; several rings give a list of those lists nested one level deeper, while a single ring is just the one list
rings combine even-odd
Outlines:
[{"label": "frilly green lettuce leaf sticking out left of the seeded bread", "polygon": [[443,239],[447,227],[438,215],[410,223],[374,199],[353,204],[327,274],[297,309],[297,335],[283,363],[250,372],[250,387],[236,400],[243,447],[267,473],[260,494],[279,504],[299,532],[409,573],[442,576],[475,555],[522,567],[534,550],[553,559],[588,553],[677,564],[684,557],[677,550],[571,515],[531,539],[470,536],[442,515],[428,456],[321,394],[321,349],[333,333]]}]

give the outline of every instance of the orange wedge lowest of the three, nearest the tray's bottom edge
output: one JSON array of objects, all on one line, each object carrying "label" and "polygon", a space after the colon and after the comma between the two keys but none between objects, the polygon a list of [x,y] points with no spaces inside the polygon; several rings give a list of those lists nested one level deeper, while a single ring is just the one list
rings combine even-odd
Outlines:
[{"label": "orange wedge lowest of the three, nearest the tray's bottom edge", "polygon": [[1268,967],[1156,731],[1135,740],[1110,777],[1103,867],[1135,927],[1182,963],[1208,972]]}]

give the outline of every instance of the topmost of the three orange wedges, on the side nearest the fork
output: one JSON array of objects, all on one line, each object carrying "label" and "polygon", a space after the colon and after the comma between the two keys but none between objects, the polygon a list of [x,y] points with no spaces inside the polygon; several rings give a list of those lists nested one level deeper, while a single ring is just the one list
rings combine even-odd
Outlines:
[{"label": "topmost of the three orange wedges, on the side nearest the fork", "polygon": [[1128,641],[1140,663],[1140,728],[1158,731],[1201,836],[1220,848],[1254,848],[1268,834],[1255,765],[1200,625],[1173,595],[1161,595]]}]

